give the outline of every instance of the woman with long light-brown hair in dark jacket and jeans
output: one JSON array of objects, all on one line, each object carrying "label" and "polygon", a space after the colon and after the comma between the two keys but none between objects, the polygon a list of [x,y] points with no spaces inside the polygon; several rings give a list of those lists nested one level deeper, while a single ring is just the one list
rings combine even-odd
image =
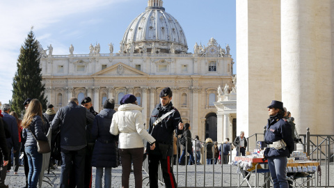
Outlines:
[{"label": "woman with long light-brown hair in dark jacket and jeans", "polygon": [[22,120],[24,128],[22,136],[26,139],[24,144],[26,157],[28,157],[29,174],[28,187],[37,187],[40,171],[42,170],[43,155],[38,152],[37,141],[47,141],[44,133],[45,122],[42,120],[42,104],[39,100],[31,100],[26,114]]}]

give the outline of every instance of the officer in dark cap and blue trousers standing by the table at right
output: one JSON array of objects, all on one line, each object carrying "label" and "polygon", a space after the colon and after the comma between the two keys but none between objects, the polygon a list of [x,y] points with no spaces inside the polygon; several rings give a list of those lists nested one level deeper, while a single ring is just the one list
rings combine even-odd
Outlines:
[{"label": "officer in dark cap and blue trousers standing by the table at right", "polygon": [[264,151],[264,157],[268,159],[273,187],[287,188],[287,157],[292,153],[294,146],[291,127],[287,120],[283,119],[283,102],[273,100],[268,108],[269,119],[264,135],[267,149]]}]

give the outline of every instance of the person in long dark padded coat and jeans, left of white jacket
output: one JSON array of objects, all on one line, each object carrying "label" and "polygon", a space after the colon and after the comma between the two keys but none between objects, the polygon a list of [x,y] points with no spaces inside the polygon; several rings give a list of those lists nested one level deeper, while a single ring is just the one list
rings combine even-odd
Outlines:
[{"label": "person in long dark padded coat and jeans, left of white jacket", "polygon": [[110,134],[111,120],[116,111],[115,100],[107,99],[100,113],[95,116],[92,127],[92,138],[96,139],[93,150],[92,166],[96,167],[95,188],[102,188],[104,169],[104,188],[111,188],[111,167],[117,167],[117,136]]}]

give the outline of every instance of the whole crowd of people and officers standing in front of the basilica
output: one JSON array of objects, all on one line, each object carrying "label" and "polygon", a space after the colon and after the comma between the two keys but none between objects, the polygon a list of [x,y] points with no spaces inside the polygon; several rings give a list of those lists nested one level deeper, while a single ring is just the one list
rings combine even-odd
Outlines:
[{"label": "whole crowd of people and officers standing in front of the basilica", "polygon": [[[37,187],[42,171],[42,153],[38,141],[48,141],[47,134],[52,132],[51,148],[59,147],[61,157],[61,187],[92,187],[92,166],[96,168],[95,187],[111,187],[111,168],[122,165],[122,187],[129,187],[129,175],[134,168],[135,186],[142,187],[143,159],[148,156],[150,187],[158,187],[158,166],[161,165],[162,176],[166,187],[177,187],[173,174],[174,164],[200,164],[201,153],[205,147],[207,164],[228,164],[231,150],[235,147],[238,155],[246,155],[247,140],[244,132],[229,143],[228,138],[218,146],[217,142],[207,138],[201,142],[199,136],[191,139],[191,126],[182,123],[179,111],[171,102],[173,93],[164,88],[160,95],[160,104],[152,111],[148,130],[143,123],[142,107],[138,106],[136,97],[127,94],[120,100],[118,111],[114,110],[115,100],[106,99],[102,111],[93,109],[90,97],[85,97],[79,105],[77,98],[70,98],[67,106],[54,111],[49,104],[42,113],[42,104],[28,98],[24,101],[23,119],[15,111],[10,112],[10,105],[3,104],[0,111],[0,188],[5,185],[6,174],[10,173],[10,153],[13,150],[13,173],[19,169],[19,154],[23,151],[25,187]],[[286,157],[293,150],[294,129],[291,113],[283,108],[283,103],[273,101],[269,108],[269,120],[265,142],[269,144],[265,157],[269,161],[274,185],[286,181],[283,168]],[[288,131],[277,134],[276,129]],[[58,135],[58,144],[54,137]],[[298,134],[296,134],[298,135]],[[184,136],[181,143],[182,154],[176,159],[177,136]],[[147,142],[144,146],[143,139]],[[283,141],[282,152],[273,148],[276,140]],[[297,139],[298,141],[298,139]],[[272,147],[271,147],[272,146]],[[276,147],[276,146],[275,146]],[[189,160],[186,156],[189,154]],[[55,155],[51,155],[55,156]],[[195,156],[195,157],[194,157]],[[56,157],[51,157],[50,166],[56,164]]]}]

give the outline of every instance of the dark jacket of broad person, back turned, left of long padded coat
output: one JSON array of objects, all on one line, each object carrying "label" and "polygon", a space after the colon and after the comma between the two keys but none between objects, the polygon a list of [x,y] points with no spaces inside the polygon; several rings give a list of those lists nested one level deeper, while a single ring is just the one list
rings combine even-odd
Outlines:
[{"label": "dark jacket of broad person, back turned, left of long padded coat", "polygon": [[61,128],[61,146],[86,145],[86,120],[93,123],[93,114],[77,103],[69,102],[57,111],[51,130],[57,132]]}]

